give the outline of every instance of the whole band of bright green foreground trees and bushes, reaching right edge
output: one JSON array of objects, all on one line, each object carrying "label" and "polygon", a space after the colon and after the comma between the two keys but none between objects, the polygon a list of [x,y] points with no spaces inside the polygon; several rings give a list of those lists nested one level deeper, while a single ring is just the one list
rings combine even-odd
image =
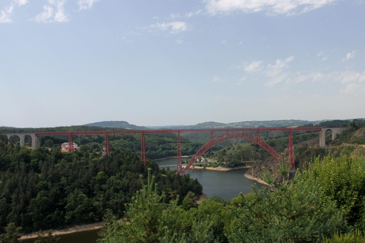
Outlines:
[{"label": "whole band of bright green foreground trees and bushes, reaching right edge", "polygon": [[[166,195],[149,176],[122,220],[106,215],[100,242],[340,242],[334,241],[342,237],[337,232],[365,225],[365,159],[327,156],[310,165],[290,182],[288,166],[279,166],[278,184],[266,174],[272,190],[253,186],[252,193],[231,202],[214,196],[199,205],[191,202],[193,196],[180,206],[178,198],[164,202]],[[350,175],[354,170],[358,173]]]}]

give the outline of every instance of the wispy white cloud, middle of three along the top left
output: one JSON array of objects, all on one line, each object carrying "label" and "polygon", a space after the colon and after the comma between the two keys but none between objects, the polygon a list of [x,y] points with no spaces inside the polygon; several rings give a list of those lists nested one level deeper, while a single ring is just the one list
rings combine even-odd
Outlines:
[{"label": "wispy white cloud, middle of three along the top left", "polygon": [[65,12],[64,5],[66,0],[48,0],[48,3],[54,5],[55,9],[50,5],[43,6],[43,12],[29,20],[37,23],[67,22],[69,15]]}]

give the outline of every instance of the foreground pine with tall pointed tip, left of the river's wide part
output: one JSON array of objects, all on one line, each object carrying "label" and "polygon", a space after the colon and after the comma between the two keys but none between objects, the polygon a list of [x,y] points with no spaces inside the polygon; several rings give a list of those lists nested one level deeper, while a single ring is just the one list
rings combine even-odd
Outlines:
[{"label": "foreground pine with tall pointed tip, left of the river's wide part", "polygon": [[125,216],[117,221],[109,216],[108,227],[103,229],[100,242],[160,242],[161,238],[176,235],[176,209],[178,197],[170,204],[164,203],[165,193],[157,193],[154,176],[148,170],[147,185],[140,177],[142,189],[126,205]]}]

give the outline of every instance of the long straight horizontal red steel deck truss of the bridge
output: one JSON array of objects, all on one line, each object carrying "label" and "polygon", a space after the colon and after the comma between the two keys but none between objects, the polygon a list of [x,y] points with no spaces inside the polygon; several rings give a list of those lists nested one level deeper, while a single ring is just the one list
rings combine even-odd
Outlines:
[{"label": "long straight horizontal red steel deck truss of the bridge", "polygon": [[165,134],[205,132],[270,132],[270,131],[321,131],[321,127],[266,127],[266,128],[216,128],[216,129],[172,129],[172,130],[115,130],[115,131],[62,131],[35,132],[36,136],[106,135],[106,134]]}]

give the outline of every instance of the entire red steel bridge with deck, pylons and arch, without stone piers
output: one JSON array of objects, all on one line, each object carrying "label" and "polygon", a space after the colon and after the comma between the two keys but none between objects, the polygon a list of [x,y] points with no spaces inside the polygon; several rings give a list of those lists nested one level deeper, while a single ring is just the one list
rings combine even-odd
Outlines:
[{"label": "entire red steel bridge with deck, pylons and arch, without stone piers", "polygon": [[[146,148],[145,148],[145,135],[146,134],[177,134],[177,171],[176,173],[185,173],[189,167],[206,151],[208,151],[214,145],[223,142],[228,139],[245,139],[250,142],[256,143],[269,154],[271,154],[278,162],[281,162],[281,156],[261,139],[260,132],[270,131],[283,131],[288,132],[288,161],[291,169],[295,169],[294,164],[294,151],[293,151],[293,131],[322,131],[322,127],[269,127],[269,128],[217,128],[217,129],[171,129],[171,130],[123,130],[123,131],[59,131],[59,132],[35,132],[35,136],[68,136],[70,151],[73,150],[73,135],[105,135],[105,154],[109,155],[109,135],[117,134],[141,134],[141,162],[146,166]],[[220,133],[220,135],[214,136],[214,133]],[[210,140],[205,143],[189,161],[188,165],[184,168],[181,163],[181,133],[210,133]],[[253,135],[255,134],[255,135]]]}]

